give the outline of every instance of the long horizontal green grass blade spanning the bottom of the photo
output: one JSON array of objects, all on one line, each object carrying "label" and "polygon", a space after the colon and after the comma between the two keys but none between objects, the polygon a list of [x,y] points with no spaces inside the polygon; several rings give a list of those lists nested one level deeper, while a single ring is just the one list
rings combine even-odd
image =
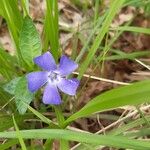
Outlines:
[{"label": "long horizontal green grass blade spanning the bottom of the photo", "polygon": [[[95,135],[91,133],[75,132],[61,129],[22,130],[20,134],[25,139],[64,139],[81,143],[105,145],[116,148],[135,150],[149,150],[150,143],[146,141],[128,139],[122,136]],[[16,132],[0,132],[1,138],[17,138]]]}]

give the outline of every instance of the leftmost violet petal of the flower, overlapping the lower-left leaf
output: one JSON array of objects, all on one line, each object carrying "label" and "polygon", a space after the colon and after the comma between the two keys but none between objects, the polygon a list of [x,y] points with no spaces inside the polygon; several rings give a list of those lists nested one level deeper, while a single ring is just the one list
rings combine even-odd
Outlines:
[{"label": "leftmost violet petal of the flower, overlapping the lower-left leaf", "polygon": [[31,72],[27,74],[28,89],[30,92],[37,91],[48,80],[48,73],[44,71]]}]

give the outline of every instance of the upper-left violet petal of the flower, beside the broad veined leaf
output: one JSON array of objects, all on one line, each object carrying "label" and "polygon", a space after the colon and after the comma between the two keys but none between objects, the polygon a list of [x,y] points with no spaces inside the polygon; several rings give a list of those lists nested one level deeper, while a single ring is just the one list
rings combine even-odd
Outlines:
[{"label": "upper-left violet petal of the flower, beside the broad veined leaf", "polygon": [[50,52],[46,52],[34,58],[34,62],[43,70],[51,71],[57,68],[55,60]]}]

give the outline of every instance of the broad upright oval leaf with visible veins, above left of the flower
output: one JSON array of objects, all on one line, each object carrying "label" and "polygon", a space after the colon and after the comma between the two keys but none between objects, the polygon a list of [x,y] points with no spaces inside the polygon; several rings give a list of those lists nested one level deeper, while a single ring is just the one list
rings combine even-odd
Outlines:
[{"label": "broad upright oval leaf with visible veins, above left of the flower", "polygon": [[19,41],[20,53],[26,65],[32,69],[33,59],[41,55],[42,47],[39,33],[29,17],[25,17]]}]

